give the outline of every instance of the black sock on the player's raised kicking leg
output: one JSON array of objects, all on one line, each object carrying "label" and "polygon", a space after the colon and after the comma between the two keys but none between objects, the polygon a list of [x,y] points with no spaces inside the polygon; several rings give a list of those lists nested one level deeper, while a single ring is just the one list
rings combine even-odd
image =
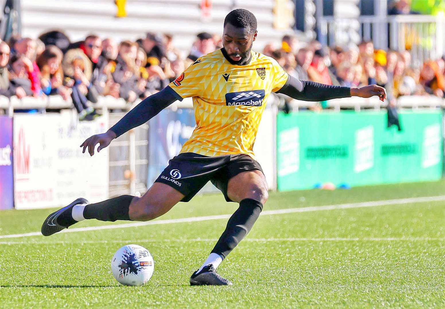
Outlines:
[{"label": "black sock on the player's raised kicking leg", "polygon": [[132,195],[121,195],[103,202],[85,206],[84,218],[101,221],[130,220],[129,207]]}]

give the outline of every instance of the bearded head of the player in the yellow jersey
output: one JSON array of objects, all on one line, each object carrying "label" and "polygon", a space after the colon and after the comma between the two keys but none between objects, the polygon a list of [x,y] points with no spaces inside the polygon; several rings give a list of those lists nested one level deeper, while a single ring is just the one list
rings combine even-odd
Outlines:
[{"label": "bearded head of the player in the yellow jersey", "polygon": [[256,39],[256,18],[242,8],[227,14],[224,20],[223,46],[232,64],[243,65],[250,59]]}]

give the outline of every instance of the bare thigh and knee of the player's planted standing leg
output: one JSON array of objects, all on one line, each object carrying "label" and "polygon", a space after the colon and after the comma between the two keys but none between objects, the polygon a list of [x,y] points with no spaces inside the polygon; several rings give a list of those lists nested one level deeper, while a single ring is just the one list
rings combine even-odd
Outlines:
[{"label": "bare thigh and knee of the player's planted standing leg", "polygon": [[252,198],[264,204],[269,195],[263,172],[248,170],[233,176],[227,184],[227,196],[237,203],[244,198]]}]

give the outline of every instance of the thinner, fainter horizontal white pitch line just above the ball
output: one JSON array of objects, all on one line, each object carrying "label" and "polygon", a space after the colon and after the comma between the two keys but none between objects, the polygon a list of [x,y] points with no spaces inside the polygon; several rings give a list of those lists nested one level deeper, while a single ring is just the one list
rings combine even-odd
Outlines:
[{"label": "thinner, fainter horizontal white pitch line just above the ball", "polygon": [[[113,240],[78,240],[78,241],[53,241],[53,242],[0,242],[0,245],[70,245],[70,244],[98,244],[98,243],[144,243],[144,242],[216,242],[218,238],[172,238],[172,239],[113,239]],[[440,237],[363,237],[363,238],[244,238],[243,242],[394,242],[394,241],[445,241],[445,238]]]}]

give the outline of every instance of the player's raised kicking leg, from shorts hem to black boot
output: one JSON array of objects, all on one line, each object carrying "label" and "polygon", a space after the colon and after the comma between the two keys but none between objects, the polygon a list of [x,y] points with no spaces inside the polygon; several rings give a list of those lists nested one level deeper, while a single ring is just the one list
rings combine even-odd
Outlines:
[{"label": "player's raised kicking leg, from shorts hem to black boot", "polygon": [[103,202],[89,204],[78,198],[68,206],[50,214],[42,225],[45,236],[57,233],[85,219],[101,221],[147,221],[165,214],[184,198],[184,194],[164,183],[155,182],[140,198],[121,195]]}]

